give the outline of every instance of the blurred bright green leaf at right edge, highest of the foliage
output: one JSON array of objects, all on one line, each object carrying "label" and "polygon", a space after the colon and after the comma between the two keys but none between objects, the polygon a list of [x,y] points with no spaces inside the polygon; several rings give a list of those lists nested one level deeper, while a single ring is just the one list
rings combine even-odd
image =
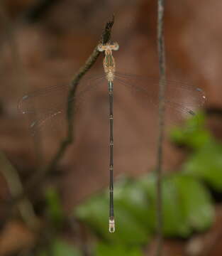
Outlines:
[{"label": "blurred bright green leaf at right edge, highest of the foliage", "polygon": [[182,129],[172,130],[171,137],[177,144],[192,148],[192,154],[182,166],[183,173],[194,176],[221,192],[222,145],[204,128],[204,124],[204,114],[199,114],[189,119]]}]

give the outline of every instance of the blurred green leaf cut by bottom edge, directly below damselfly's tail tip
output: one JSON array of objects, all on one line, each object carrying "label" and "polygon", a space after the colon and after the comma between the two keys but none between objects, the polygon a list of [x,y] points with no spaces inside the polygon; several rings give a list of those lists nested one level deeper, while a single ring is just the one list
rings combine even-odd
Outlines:
[{"label": "blurred green leaf cut by bottom edge, directly below damselfly's tail tip", "polygon": [[107,245],[99,243],[96,245],[95,256],[143,256],[140,247],[126,247],[124,245]]}]

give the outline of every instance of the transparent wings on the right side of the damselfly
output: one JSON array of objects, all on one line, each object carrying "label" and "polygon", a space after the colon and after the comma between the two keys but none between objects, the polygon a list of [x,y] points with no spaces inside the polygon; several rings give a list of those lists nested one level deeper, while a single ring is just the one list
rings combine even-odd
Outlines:
[{"label": "transparent wings on the right side of the damselfly", "polygon": [[[128,87],[138,95],[138,104],[145,105],[157,114],[159,100],[159,83],[166,85],[165,108],[167,122],[181,122],[196,113],[206,101],[204,91],[187,82],[159,80],[138,75],[116,73],[116,82]],[[114,81],[114,82],[115,82]]]}]

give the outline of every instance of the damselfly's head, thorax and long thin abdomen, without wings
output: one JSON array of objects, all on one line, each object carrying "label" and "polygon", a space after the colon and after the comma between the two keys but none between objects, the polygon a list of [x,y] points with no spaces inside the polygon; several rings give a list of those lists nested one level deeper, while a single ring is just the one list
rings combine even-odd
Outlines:
[{"label": "damselfly's head, thorax and long thin abdomen, without wings", "polygon": [[109,232],[115,232],[114,208],[113,208],[113,80],[115,78],[116,63],[112,50],[118,50],[118,43],[99,44],[97,48],[104,51],[104,73],[108,80],[109,89]]}]

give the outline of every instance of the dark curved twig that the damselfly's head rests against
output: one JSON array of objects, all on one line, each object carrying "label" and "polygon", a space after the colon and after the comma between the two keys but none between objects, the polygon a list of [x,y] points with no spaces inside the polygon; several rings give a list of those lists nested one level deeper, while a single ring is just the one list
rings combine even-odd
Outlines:
[{"label": "dark curved twig that the damselfly's head rests against", "polygon": [[[111,21],[108,21],[106,23],[106,26],[104,28],[104,31],[101,35],[101,40],[99,43],[107,43],[111,38],[111,28],[114,23],[114,16]],[[55,156],[52,157],[50,164],[44,169],[40,169],[39,171],[36,171],[35,174],[30,178],[30,180],[27,182],[27,185],[25,186],[25,191],[17,198],[14,198],[13,205],[20,201],[23,196],[25,196],[30,191],[35,191],[36,187],[39,186],[41,182],[44,181],[45,177],[51,173],[55,169],[55,166],[57,163],[62,159],[62,156],[65,154],[65,151],[67,150],[67,147],[72,144],[73,142],[73,127],[74,127],[74,102],[73,98],[75,95],[75,92],[77,90],[77,87],[79,85],[79,81],[81,78],[87,73],[89,68],[95,63],[96,59],[99,56],[99,51],[97,50],[97,46],[94,48],[93,52],[87,59],[87,61],[84,63],[82,68],[79,69],[79,71],[74,75],[74,78],[72,79],[72,82],[70,84],[70,92],[67,97],[67,136],[65,139],[61,142],[59,148],[57,149],[57,152],[55,153]]]}]

